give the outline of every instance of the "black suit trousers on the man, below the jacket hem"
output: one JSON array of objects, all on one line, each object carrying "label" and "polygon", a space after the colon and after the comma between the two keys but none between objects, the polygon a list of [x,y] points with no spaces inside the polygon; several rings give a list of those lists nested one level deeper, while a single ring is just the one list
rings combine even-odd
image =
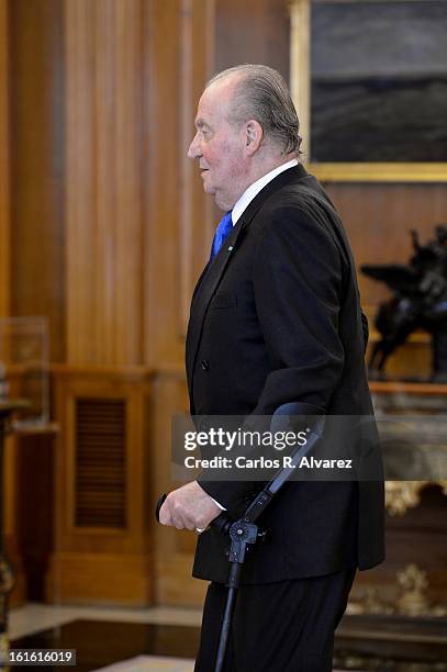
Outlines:
[{"label": "black suit trousers on the man, below the jacket hem", "polygon": [[[237,595],[225,672],[331,672],[334,632],[356,570],[243,585]],[[194,672],[213,672],[227,589],[211,583]]]}]

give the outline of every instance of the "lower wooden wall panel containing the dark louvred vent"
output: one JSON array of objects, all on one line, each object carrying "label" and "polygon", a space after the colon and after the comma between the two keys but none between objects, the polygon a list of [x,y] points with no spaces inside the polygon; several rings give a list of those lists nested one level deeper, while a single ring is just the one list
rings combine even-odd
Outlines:
[{"label": "lower wooden wall panel containing the dark louvred vent", "polygon": [[[53,382],[60,435],[55,471],[56,538],[47,596],[62,602],[148,604],[154,589],[154,547],[148,537],[148,519],[153,517],[149,490],[154,451],[148,440],[150,382],[147,372],[137,367],[60,367],[55,369]],[[89,428],[82,423],[83,434],[78,436],[80,402],[83,416],[90,413],[90,417]],[[101,413],[101,405],[108,403],[123,407],[123,436],[118,445],[114,443],[114,448],[111,444],[109,458],[101,463],[98,455],[107,449],[108,435],[116,439],[120,423],[120,416],[113,416],[110,411]],[[116,449],[118,461],[112,455]],[[98,478],[91,469],[86,481],[83,467],[94,460]],[[122,473],[115,473],[109,490],[104,491],[108,464],[110,470],[119,462],[123,464]],[[80,517],[80,503],[86,496],[87,517]],[[105,508],[110,513],[114,496],[119,506],[114,505],[113,512],[120,514],[120,507],[123,512],[111,520]]]}]

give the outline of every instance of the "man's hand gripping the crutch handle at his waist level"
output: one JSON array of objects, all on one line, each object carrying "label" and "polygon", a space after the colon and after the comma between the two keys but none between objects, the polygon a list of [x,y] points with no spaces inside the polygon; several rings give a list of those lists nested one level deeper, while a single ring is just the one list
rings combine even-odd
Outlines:
[{"label": "man's hand gripping the crutch handle at his waist level", "polygon": [[161,525],[177,529],[205,529],[222,511],[197,481],[174,490],[166,497],[159,514]]}]

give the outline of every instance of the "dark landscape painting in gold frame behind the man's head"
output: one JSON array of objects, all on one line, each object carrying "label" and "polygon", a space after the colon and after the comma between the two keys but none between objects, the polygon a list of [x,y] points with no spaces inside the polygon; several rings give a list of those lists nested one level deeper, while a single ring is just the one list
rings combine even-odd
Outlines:
[{"label": "dark landscape painting in gold frame behind the man's head", "polygon": [[290,53],[319,177],[447,181],[446,0],[294,0]]}]

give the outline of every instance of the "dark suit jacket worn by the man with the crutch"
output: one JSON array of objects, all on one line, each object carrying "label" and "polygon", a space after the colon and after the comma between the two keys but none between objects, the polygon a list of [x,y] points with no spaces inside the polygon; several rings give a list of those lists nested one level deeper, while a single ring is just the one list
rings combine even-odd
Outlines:
[{"label": "dark suit jacket worn by the man with the crutch", "polygon": [[[249,203],[199,279],[187,338],[191,414],[269,415],[289,402],[327,415],[371,414],[364,352],[342,222],[299,165]],[[234,516],[256,490],[199,482]],[[373,567],[383,559],[383,485],[287,483],[262,526],[268,541],[248,555],[243,583]],[[226,547],[212,528],[200,535],[193,575],[226,582]]]}]

